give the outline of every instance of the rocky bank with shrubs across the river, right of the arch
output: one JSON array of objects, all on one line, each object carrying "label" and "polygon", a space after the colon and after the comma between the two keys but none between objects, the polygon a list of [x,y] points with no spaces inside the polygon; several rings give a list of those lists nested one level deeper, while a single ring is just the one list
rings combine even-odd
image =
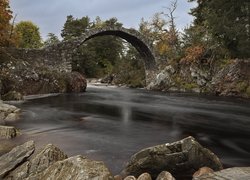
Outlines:
[{"label": "rocky bank with shrubs across the river, right of the arch", "polygon": [[169,62],[160,69],[148,89],[250,98],[250,60],[247,59],[213,64]]}]

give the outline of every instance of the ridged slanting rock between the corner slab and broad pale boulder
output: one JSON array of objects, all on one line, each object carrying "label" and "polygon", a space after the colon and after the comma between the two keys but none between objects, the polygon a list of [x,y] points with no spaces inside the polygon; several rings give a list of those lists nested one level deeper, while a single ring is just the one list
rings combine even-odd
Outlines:
[{"label": "ridged slanting rock between the corner slab and broad pale boulder", "polygon": [[67,158],[59,148],[48,144],[42,151],[9,173],[7,179],[25,179],[43,172],[50,165]]}]

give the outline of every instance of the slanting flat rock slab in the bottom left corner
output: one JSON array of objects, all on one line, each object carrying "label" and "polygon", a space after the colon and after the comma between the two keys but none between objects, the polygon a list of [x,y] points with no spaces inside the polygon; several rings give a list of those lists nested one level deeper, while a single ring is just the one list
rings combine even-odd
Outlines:
[{"label": "slanting flat rock slab in the bottom left corner", "polygon": [[13,148],[7,154],[0,157],[0,179],[3,179],[10,171],[23,163],[35,150],[33,141],[26,142]]}]

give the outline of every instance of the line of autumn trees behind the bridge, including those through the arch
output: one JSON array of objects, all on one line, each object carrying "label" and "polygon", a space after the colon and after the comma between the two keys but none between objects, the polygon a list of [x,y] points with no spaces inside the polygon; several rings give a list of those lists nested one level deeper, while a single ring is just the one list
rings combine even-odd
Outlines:
[{"label": "line of autumn trees behind the bridge, including those through the arch", "polygon": [[[197,6],[190,10],[194,22],[184,31],[175,24],[177,1],[151,20],[141,20],[139,31],[153,41],[160,66],[169,62],[214,63],[232,58],[250,58],[249,0],[188,0]],[[39,48],[60,42],[49,33],[42,42],[39,28],[32,22],[14,24],[8,0],[0,2],[0,46]],[[67,16],[61,32],[63,40],[79,37],[88,29],[105,26],[122,27],[116,18],[101,20],[88,16]],[[87,77],[119,74],[120,81],[143,86],[145,74],[138,52],[127,42],[113,36],[96,37],[82,45],[74,57],[74,70]],[[126,70],[124,69],[126,68]],[[136,79],[136,80],[135,80]],[[119,81],[119,80],[118,80]],[[136,81],[136,82],[130,82]]]}]

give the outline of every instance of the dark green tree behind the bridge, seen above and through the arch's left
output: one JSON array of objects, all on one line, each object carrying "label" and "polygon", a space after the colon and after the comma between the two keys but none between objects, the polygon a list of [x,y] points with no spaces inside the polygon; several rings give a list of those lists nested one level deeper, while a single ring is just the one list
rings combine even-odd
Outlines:
[{"label": "dark green tree behind the bridge, seen above and through the arch's left", "polygon": [[[90,28],[102,28],[105,26],[121,27],[122,24],[116,18],[102,21],[97,17],[91,22],[88,16],[75,19],[67,16],[62,30],[64,40],[79,37]],[[85,74],[87,77],[103,77],[110,74],[122,53],[122,40],[114,36],[101,36],[88,40],[78,48],[73,57],[74,70]]]}]

